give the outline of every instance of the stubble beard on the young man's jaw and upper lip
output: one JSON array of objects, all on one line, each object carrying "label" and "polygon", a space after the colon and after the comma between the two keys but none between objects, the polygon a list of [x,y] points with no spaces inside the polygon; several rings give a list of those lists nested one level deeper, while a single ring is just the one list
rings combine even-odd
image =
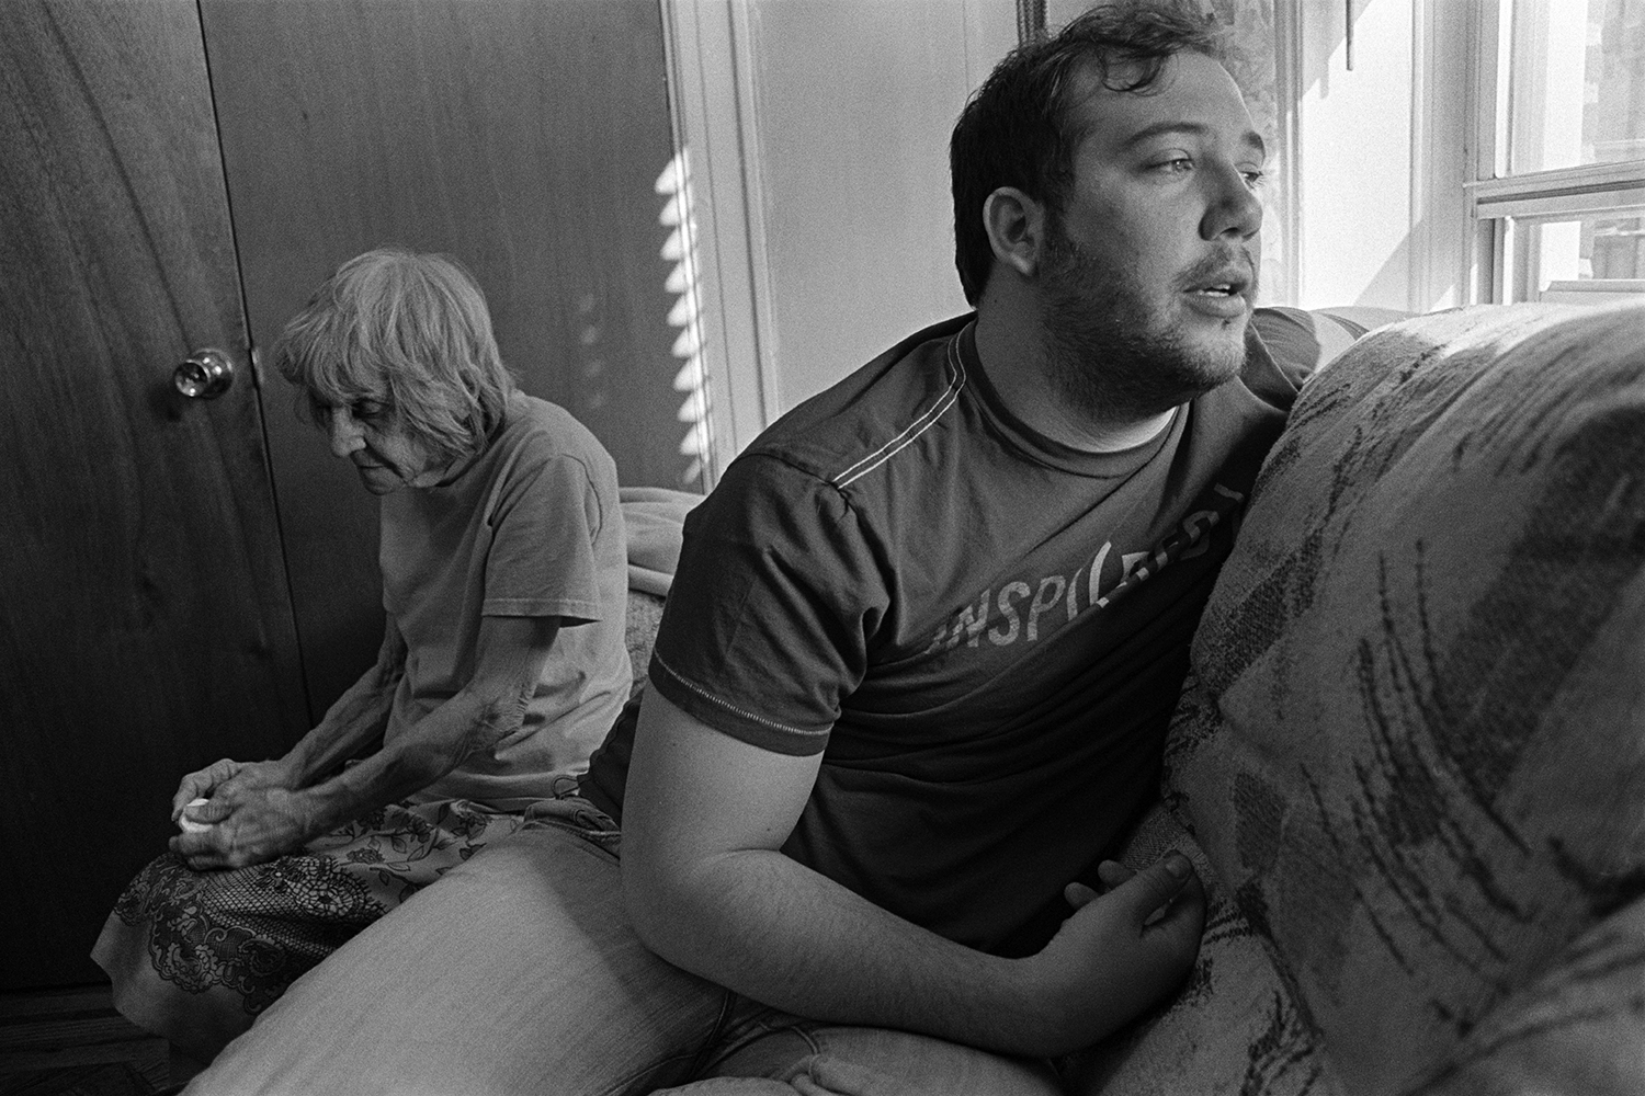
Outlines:
[{"label": "stubble beard on the young man's jaw and upper lip", "polygon": [[[1226,260],[1204,263],[1206,276],[1222,265]],[[1188,284],[1198,269],[1184,276]],[[1104,422],[1137,421],[1239,376],[1244,340],[1191,345],[1125,271],[1112,269],[1059,228],[1051,232],[1040,276],[1048,380],[1069,409]],[[1255,289],[1252,283],[1249,292]]]}]

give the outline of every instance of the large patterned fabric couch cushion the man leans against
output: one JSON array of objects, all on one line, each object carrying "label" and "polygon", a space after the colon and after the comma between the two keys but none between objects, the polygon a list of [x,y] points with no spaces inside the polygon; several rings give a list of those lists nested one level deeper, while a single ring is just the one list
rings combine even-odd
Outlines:
[{"label": "large patterned fabric couch cushion the man leans against", "polygon": [[1293,409],[1193,664],[1173,810],[1344,1084],[1418,1083],[1645,894],[1645,307],[1355,343]]}]

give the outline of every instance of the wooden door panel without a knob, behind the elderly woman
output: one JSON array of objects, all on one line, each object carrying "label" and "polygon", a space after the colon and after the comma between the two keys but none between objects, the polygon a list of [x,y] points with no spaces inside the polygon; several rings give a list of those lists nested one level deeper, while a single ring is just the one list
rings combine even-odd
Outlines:
[{"label": "wooden door panel without a knob, behind the elderly woman", "polygon": [[[253,343],[382,243],[456,255],[503,360],[625,485],[683,486],[655,184],[673,156],[656,0],[202,0]],[[271,363],[270,363],[271,365]],[[291,412],[270,452],[317,715],[382,634],[377,506]]]}]

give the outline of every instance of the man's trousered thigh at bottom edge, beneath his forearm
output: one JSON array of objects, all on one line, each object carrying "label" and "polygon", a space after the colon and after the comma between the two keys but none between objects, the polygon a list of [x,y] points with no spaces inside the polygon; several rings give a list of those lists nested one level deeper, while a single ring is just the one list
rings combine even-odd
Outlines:
[{"label": "man's trousered thigh at bottom edge, beneath his forearm", "polygon": [[[679,1096],[1061,1096],[1046,1061],[745,1006]],[[739,1009],[742,1014],[745,1009]]]}]

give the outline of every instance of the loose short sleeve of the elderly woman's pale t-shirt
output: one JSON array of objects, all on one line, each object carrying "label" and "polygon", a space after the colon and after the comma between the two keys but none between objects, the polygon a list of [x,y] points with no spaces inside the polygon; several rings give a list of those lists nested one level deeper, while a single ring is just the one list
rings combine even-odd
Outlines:
[{"label": "loose short sleeve of the elderly woman's pale t-shirt", "polygon": [[576,457],[521,455],[497,485],[487,513],[485,616],[600,619],[595,541],[607,514]]}]

